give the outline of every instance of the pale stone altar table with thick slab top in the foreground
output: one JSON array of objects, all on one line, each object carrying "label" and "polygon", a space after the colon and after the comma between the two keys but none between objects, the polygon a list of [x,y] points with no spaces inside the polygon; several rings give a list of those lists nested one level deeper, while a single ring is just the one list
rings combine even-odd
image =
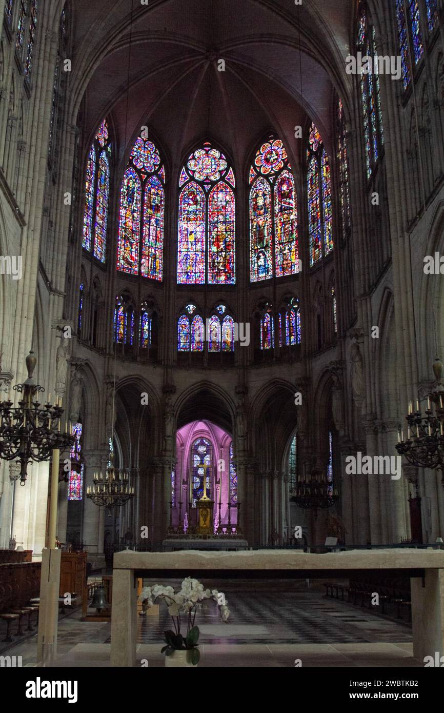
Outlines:
[{"label": "pale stone altar table with thick slab top in the foreground", "polygon": [[188,576],[205,583],[206,579],[333,579],[356,573],[411,578],[413,655],[419,660],[435,652],[444,655],[444,552],[440,550],[348,550],[322,555],[300,550],[125,550],[114,555],[111,666],[136,665],[137,578],[166,584],[169,578]]}]

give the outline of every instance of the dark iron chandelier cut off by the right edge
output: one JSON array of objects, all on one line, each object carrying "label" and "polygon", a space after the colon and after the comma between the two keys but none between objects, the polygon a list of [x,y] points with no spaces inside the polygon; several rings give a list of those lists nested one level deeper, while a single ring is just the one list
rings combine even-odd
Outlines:
[{"label": "dark iron chandelier cut off by the right edge", "polygon": [[444,488],[444,391],[441,386],[443,364],[436,359],[433,364],[438,390],[432,391],[427,398],[427,409],[424,415],[416,400],[416,410],[413,401],[408,404],[407,438],[404,431],[398,433],[396,450],[400,456],[406,456],[409,463],[419,468],[436,469],[441,472]]}]

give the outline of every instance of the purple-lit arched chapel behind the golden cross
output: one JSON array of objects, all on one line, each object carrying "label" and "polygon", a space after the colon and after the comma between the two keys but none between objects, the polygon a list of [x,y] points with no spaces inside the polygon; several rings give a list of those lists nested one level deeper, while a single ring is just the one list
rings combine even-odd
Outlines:
[{"label": "purple-lit arched chapel behind the golden cross", "polygon": [[215,531],[237,523],[237,467],[232,436],[212,421],[191,421],[176,435],[176,467],[171,474],[172,525],[194,528],[196,502],[214,501]]}]

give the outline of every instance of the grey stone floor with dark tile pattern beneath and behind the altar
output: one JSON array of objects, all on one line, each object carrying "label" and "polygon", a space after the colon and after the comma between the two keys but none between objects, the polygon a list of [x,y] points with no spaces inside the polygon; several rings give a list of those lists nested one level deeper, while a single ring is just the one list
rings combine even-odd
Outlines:
[{"label": "grey stone floor with dark tile pattern beneath and behind the altar", "polygon": [[[242,586],[243,585],[243,586]],[[265,588],[267,586],[267,588]],[[419,667],[413,659],[411,627],[368,609],[326,599],[316,587],[288,590],[288,582],[255,587],[234,583],[226,588],[231,615],[220,620],[217,606],[198,615],[204,667]],[[287,590],[286,590],[287,589]],[[58,625],[59,667],[106,667],[110,660],[110,624],[81,622],[78,610]],[[170,627],[166,607],[160,615],[138,617],[138,665],[165,665],[160,654],[163,631]],[[3,645],[4,646],[4,645]],[[3,651],[4,652],[4,651]],[[9,645],[9,655],[36,662],[36,635]]]}]

